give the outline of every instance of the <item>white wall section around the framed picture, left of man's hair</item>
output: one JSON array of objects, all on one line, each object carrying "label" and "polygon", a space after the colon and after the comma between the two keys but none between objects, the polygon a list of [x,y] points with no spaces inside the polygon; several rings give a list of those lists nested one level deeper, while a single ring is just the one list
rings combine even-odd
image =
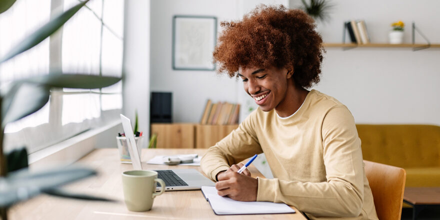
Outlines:
[{"label": "white wall section around the framed picture, left of man's hair", "polygon": [[[171,91],[173,122],[198,122],[206,100],[242,102],[240,80],[215,71],[173,70],[172,16],[210,15],[219,22],[234,20],[258,3],[284,3],[287,0],[153,0],[151,1],[151,91]],[[217,34],[218,36],[218,34]]]}]

